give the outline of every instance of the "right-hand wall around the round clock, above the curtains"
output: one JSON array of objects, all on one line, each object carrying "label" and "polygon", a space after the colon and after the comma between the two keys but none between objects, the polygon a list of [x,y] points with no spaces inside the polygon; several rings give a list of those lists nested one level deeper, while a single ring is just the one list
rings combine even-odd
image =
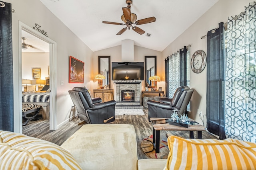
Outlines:
[{"label": "right-hand wall around the round clock, above the curtains", "polygon": [[[244,6],[248,6],[251,1],[252,0],[219,0],[193,25],[184,31],[182,35],[162,51],[162,60],[188,44],[191,45],[190,59],[197,50],[203,50],[207,53],[206,38],[200,39],[200,37],[206,35],[207,31],[218,27],[218,23],[226,23],[228,16],[240,14],[244,11]],[[164,63],[162,63],[162,67],[164,67]],[[200,123],[202,123],[202,121],[200,120],[199,114],[197,114],[197,109],[200,109],[203,114],[206,114],[206,70],[207,65],[201,73],[196,74],[192,72],[190,68],[190,88],[193,88],[195,91],[190,102],[192,113],[189,116]]]}]

